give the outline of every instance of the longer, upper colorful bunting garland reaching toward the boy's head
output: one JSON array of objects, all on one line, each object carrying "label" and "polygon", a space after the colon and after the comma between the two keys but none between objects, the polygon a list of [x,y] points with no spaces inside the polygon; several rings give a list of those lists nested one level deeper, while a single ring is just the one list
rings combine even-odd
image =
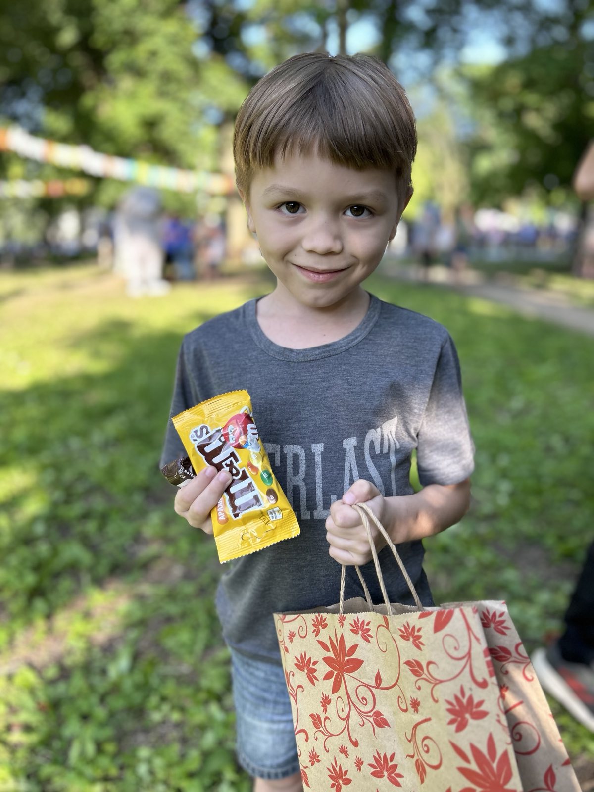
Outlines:
[{"label": "longer, upper colorful bunting garland reaching toward the boy's head", "polygon": [[72,146],[70,143],[38,138],[16,126],[0,127],[0,151],[13,151],[37,162],[51,162],[62,168],[82,170],[90,176],[135,181],[176,192],[200,190],[211,195],[228,195],[234,189],[233,180],[223,173],[199,173],[114,157],[112,154],[101,154],[89,146]]}]

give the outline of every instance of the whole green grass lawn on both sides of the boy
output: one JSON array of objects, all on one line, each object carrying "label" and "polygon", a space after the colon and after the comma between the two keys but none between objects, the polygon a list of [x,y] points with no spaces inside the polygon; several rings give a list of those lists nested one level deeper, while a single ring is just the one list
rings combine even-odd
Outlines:
[{"label": "whole green grass lawn on both sides of the boy", "polygon": [[[219,566],[157,460],[181,336],[268,290],[258,278],[131,300],[92,266],[0,275],[0,792],[249,790]],[[370,287],[443,322],[462,361],[474,503],[426,543],[436,599],[507,600],[533,649],[592,532],[592,340],[452,291]],[[579,765],[594,739],[553,706]]]}]

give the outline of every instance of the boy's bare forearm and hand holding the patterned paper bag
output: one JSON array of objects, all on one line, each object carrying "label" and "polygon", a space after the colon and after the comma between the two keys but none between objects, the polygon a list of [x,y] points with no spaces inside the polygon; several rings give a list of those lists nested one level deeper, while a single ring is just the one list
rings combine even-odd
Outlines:
[{"label": "boy's bare forearm and hand holding the patterned paper bag", "polygon": [[[345,565],[371,561],[367,533],[352,505],[367,503],[398,545],[425,539],[459,522],[470,505],[470,478],[458,484],[428,484],[418,493],[383,497],[371,482],[360,479],[351,485],[341,501],[330,507],[326,520],[329,554]],[[375,525],[371,526],[375,547],[386,545]]]}]

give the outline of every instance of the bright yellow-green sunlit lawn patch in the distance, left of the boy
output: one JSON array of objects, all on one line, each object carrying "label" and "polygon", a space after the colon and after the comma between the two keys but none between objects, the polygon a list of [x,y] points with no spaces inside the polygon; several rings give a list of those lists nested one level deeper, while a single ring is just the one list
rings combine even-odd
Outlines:
[{"label": "bright yellow-green sunlit lawn patch in the distance, left of the boy", "polygon": [[264,282],[236,278],[173,284],[162,297],[131,299],[120,278],[92,267],[12,280],[12,291],[3,284],[0,365],[2,386],[13,392],[55,380],[56,371],[63,379],[101,375],[127,341],[164,330],[181,341],[201,322],[267,291]]}]

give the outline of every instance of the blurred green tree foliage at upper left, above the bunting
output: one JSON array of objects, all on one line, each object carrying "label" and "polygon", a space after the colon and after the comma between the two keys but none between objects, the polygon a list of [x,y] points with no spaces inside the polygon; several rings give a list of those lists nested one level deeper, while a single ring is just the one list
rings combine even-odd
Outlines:
[{"label": "blurred green tree foliage at upper left, above the bunting", "polygon": [[[177,0],[4,2],[1,21],[4,120],[107,154],[216,167],[209,111],[234,112],[247,86],[222,56],[196,57],[200,32]],[[89,200],[112,204],[121,188],[105,182]]]}]

